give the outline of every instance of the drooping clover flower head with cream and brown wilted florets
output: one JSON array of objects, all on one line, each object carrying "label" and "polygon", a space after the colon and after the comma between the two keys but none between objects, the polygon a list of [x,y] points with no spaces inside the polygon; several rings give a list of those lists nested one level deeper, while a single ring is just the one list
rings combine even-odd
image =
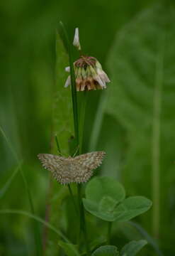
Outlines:
[{"label": "drooping clover flower head with cream and brown wilted florets", "polygon": [[[66,71],[69,72],[69,68],[66,68]],[[81,55],[74,62],[74,73],[78,92],[84,90],[103,90],[106,88],[106,83],[110,82],[108,75],[102,69],[101,63],[91,56]],[[68,77],[64,87],[67,87],[70,83],[70,77]]]}]

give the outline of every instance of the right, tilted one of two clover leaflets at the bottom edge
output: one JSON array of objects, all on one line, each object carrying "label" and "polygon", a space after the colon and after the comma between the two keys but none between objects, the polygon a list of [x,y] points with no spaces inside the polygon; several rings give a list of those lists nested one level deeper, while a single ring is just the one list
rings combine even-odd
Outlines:
[{"label": "right, tilted one of two clover leaflets at the bottom edge", "polygon": [[147,245],[146,240],[139,240],[139,241],[131,241],[125,245],[122,250],[120,251],[121,256],[135,256],[137,252],[139,252],[142,247]]}]

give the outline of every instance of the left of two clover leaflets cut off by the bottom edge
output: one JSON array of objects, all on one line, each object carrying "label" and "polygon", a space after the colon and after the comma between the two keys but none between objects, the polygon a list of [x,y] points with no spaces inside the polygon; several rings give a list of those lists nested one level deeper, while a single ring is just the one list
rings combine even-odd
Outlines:
[{"label": "left of two clover leaflets cut off by the bottom edge", "polygon": [[113,245],[103,245],[96,249],[91,256],[118,256],[118,248]]}]

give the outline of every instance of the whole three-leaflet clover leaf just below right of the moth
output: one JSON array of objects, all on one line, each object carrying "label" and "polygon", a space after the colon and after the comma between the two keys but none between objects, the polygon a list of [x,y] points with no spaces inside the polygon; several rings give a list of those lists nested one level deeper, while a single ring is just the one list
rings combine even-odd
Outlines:
[{"label": "whole three-leaflet clover leaf just below right of the moth", "polygon": [[143,196],[125,199],[123,186],[114,178],[96,177],[86,186],[84,208],[102,220],[127,221],[149,210],[152,202]]}]

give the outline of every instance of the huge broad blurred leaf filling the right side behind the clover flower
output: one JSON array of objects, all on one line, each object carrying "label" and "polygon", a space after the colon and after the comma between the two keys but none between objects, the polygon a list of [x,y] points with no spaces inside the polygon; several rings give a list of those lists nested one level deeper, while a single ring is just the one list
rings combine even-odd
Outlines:
[{"label": "huge broad blurred leaf filling the right side behind the clover flower", "polygon": [[174,235],[169,234],[175,228],[174,35],[174,7],[153,6],[121,29],[108,58],[112,82],[106,112],[125,129],[125,188],[152,199],[152,211],[142,223],[163,247],[173,244]]}]

